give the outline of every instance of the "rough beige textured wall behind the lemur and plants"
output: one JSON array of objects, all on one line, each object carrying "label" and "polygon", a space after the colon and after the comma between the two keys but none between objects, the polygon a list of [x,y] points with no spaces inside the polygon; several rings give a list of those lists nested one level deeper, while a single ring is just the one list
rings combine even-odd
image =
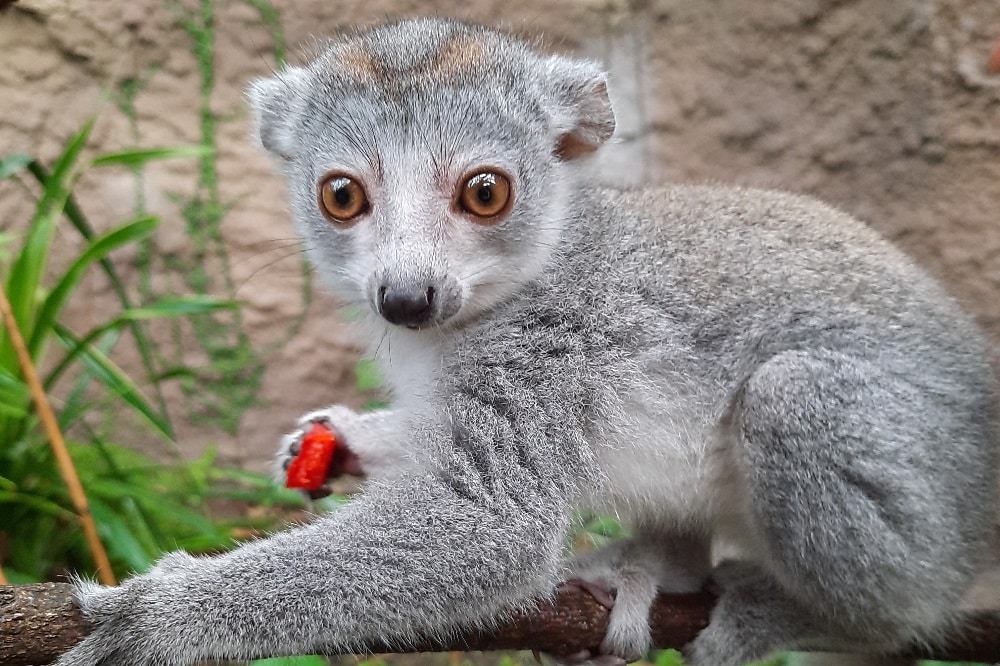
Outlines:
[{"label": "rough beige textured wall behind the lemur and plants", "polygon": [[[192,6],[185,1],[184,6]],[[554,48],[605,61],[619,142],[598,157],[610,182],[728,181],[817,195],[897,240],[1000,342],[1000,76],[983,65],[1000,38],[995,0],[527,0],[391,2],[275,0],[287,43],[341,27],[441,14],[545,35]],[[228,459],[262,469],[295,417],[333,401],[357,404],[331,303],[317,296],[301,333],[269,348],[301,305],[282,182],[248,139],[246,82],[274,63],[271,37],[246,3],[217,0],[216,88],[220,189],[235,199],[222,231],[233,252],[247,331],[264,350],[260,406],[236,437],[185,423],[194,454],[221,442]],[[147,146],[198,139],[198,72],[191,42],[166,0],[21,0],[0,14],[0,153],[51,159],[99,111],[92,152],[132,143],[102,89],[145,77],[136,98]],[[190,252],[170,193],[189,194],[193,163],[151,166],[143,191],[164,216],[159,247]],[[101,226],[127,219],[133,180],[88,174],[78,194]],[[30,196],[0,184],[0,226],[23,225]],[[61,234],[59,256],[75,244]],[[115,257],[123,270],[134,259]],[[86,284],[72,323],[109,311],[107,284]],[[158,333],[160,335],[162,333]],[[127,347],[122,351],[128,356]],[[1000,348],[1000,344],[998,344]],[[192,361],[197,361],[192,356]],[[179,393],[171,391],[172,403]]]}]

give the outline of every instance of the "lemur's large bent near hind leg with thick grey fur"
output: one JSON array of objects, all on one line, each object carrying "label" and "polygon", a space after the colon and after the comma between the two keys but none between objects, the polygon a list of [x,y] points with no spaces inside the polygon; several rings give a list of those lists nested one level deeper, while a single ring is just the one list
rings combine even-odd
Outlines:
[{"label": "lemur's large bent near hind leg with thick grey fur", "polygon": [[948,421],[957,410],[934,404],[947,398],[909,382],[908,370],[789,352],[746,382],[733,450],[767,552],[760,566],[713,574],[722,593],[688,647],[691,666],[736,666],[779,648],[891,653],[946,621],[968,558],[959,508],[943,496],[954,489],[934,479],[954,464],[941,444],[967,436],[967,417]]}]

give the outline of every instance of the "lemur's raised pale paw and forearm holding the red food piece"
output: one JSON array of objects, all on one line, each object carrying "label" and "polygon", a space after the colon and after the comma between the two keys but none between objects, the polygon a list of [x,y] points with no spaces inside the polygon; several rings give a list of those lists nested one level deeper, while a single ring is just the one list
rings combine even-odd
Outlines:
[{"label": "lemur's raised pale paw and forearm holding the red food piece", "polygon": [[341,468],[331,470],[331,477],[339,474],[381,476],[407,464],[406,454],[400,446],[406,439],[400,433],[395,412],[386,409],[359,414],[348,407],[333,405],[301,417],[298,427],[282,438],[274,461],[278,478],[284,477],[292,458],[298,455],[302,437],[317,422],[330,428],[339,446],[351,454]]}]

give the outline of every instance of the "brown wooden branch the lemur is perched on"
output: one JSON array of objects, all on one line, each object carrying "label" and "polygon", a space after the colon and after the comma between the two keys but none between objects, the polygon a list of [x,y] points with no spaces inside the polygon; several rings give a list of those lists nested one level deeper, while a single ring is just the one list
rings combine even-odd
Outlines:
[{"label": "brown wooden branch the lemur is perched on", "polygon": [[[657,647],[678,648],[708,624],[715,598],[708,593],[661,594],[650,624]],[[466,632],[447,642],[427,641],[408,652],[452,650],[539,650],[570,654],[594,649],[604,637],[608,612],[586,592],[561,589],[550,604],[518,615],[491,632]],[[50,664],[90,630],[66,583],[0,586],[0,664]],[[372,653],[399,652],[369,645]],[[971,613],[960,632],[935,649],[915,649],[907,656],[941,661],[1000,663],[1000,611]]]}]

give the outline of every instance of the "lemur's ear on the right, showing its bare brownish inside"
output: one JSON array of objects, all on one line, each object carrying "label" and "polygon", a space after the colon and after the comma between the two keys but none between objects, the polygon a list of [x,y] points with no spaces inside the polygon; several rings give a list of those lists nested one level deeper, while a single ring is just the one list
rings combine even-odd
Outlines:
[{"label": "lemur's ear on the right, showing its bare brownish inside", "polygon": [[549,57],[546,65],[556,102],[552,114],[555,153],[563,160],[589,155],[615,131],[608,77],[592,62],[562,56]]}]

